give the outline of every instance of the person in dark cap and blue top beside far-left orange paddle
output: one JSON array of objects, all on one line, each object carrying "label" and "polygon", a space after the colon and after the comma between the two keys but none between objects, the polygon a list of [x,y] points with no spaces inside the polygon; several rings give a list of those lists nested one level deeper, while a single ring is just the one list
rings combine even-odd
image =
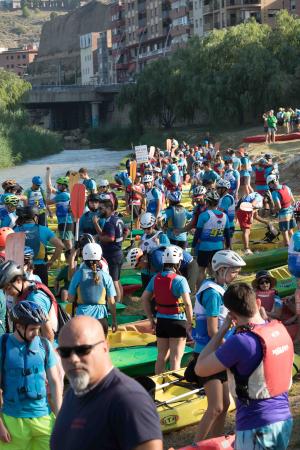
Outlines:
[{"label": "person in dark cap and blue top beside far-left orange paddle", "polygon": [[[64,245],[48,227],[38,225],[39,212],[35,207],[19,207],[16,212],[18,219],[14,231],[25,232],[25,245],[31,247],[34,252],[34,272],[39,275],[44,284],[48,285],[48,269],[60,257]],[[46,258],[48,244],[54,246],[54,253],[49,261]]]}]

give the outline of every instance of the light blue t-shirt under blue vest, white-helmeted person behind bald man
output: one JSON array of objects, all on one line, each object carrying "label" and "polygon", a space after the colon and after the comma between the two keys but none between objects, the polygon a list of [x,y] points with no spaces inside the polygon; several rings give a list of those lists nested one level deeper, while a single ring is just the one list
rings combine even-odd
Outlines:
[{"label": "light blue t-shirt under blue vest, white-helmeted person behind bald man", "polygon": [[[70,295],[76,295],[77,288],[82,280],[82,274],[83,272],[80,269],[74,273],[68,289]],[[103,286],[106,290],[106,296],[116,297],[117,294],[111,276],[104,271],[101,271],[101,276]],[[76,316],[91,316],[95,319],[102,319],[108,316],[107,307],[106,305],[85,305],[79,303],[76,308]]]}]

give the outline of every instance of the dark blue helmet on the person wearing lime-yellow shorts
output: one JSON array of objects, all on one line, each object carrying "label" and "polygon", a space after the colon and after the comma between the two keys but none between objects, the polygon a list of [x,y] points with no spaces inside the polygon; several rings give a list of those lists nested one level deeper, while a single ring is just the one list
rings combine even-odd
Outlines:
[{"label": "dark blue helmet on the person wearing lime-yellow shorts", "polygon": [[10,317],[14,323],[22,325],[42,325],[48,321],[43,309],[27,300],[17,303],[11,310]]}]

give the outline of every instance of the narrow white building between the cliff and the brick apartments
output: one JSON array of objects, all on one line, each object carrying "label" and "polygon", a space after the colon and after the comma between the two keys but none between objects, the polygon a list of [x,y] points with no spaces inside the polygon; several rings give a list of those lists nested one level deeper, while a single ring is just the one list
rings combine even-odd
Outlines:
[{"label": "narrow white building between the cliff and the brick apartments", "polygon": [[80,39],[81,84],[97,84],[98,58],[97,40],[99,33],[87,33]]}]

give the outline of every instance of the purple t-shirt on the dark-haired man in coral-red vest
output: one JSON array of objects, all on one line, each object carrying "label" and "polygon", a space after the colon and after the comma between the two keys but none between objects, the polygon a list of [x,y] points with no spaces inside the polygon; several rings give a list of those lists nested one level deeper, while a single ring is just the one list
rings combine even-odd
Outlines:
[{"label": "purple t-shirt on the dark-haired man in coral-red vest", "polygon": [[[234,334],[216,351],[218,360],[227,368],[234,367],[241,376],[249,376],[262,356],[260,339],[251,332]],[[237,400],[237,431],[260,428],[290,417],[287,393],[263,400]]]}]

